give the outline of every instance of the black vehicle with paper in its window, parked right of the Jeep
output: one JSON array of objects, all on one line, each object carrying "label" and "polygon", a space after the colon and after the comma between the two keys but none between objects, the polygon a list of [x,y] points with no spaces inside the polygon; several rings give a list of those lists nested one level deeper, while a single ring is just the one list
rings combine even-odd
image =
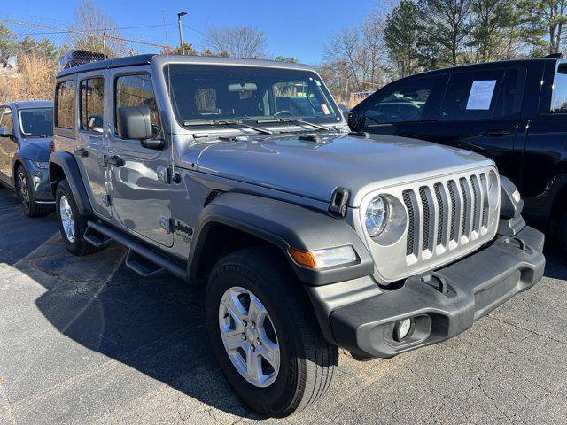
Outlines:
[{"label": "black vehicle with paper in its window, parked right of the Jeep", "polygon": [[493,158],[522,192],[526,220],[559,236],[567,249],[567,61],[524,59],[412,75],[355,106],[349,126]]}]

